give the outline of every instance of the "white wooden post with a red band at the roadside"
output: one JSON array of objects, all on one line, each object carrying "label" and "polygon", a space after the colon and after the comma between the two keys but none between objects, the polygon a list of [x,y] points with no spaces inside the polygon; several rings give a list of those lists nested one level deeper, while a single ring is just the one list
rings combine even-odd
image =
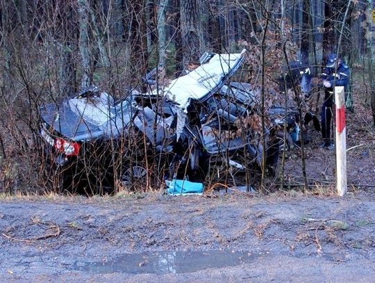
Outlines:
[{"label": "white wooden post with a red band at the roadside", "polygon": [[338,195],[347,193],[347,129],[345,117],[345,92],[343,86],[335,87],[336,105],[336,187]]}]

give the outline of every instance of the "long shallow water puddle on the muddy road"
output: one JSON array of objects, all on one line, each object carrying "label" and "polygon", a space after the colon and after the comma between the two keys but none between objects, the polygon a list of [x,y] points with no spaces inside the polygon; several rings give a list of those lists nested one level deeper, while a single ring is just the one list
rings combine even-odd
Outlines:
[{"label": "long shallow water puddle on the muddy road", "polygon": [[124,254],[111,261],[76,262],[74,270],[90,273],[192,273],[206,268],[223,268],[249,264],[260,257],[262,252],[232,252],[211,250],[208,252],[145,252]]}]

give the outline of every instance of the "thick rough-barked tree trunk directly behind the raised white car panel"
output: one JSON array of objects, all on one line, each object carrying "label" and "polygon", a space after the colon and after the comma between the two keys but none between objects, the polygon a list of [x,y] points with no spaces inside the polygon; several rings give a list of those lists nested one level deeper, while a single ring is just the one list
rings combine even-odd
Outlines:
[{"label": "thick rough-barked tree trunk directly behind the raised white car panel", "polygon": [[203,53],[200,0],[181,0],[183,65],[199,62]]}]

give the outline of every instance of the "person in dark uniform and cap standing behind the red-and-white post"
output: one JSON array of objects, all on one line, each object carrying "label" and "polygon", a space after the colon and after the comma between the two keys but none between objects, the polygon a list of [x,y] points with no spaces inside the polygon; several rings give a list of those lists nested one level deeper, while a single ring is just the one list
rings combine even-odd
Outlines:
[{"label": "person in dark uniform and cap standing behind the red-and-white post", "polygon": [[[333,95],[335,86],[344,86],[347,92],[350,68],[336,54],[328,56],[328,63],[322,73],[322,84],[324,86],[324,102],[322,106],[322,148],[333,149],[334,144],[331,138],[331,120],[333,113]],[[346,95],[345,95],[346,97]]]}]

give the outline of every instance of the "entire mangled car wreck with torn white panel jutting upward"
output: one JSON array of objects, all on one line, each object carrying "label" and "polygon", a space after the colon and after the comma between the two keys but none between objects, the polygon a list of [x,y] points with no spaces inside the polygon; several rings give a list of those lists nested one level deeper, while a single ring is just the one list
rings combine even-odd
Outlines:
[{"label": "entire mangled car wreck with torn white panel jutting upward", "polygon": [[263,151],[256,92],[231,81],[245,52],[206,53],[197,69],[158,92],[133,90],[115,102],[91,88],[42,106],[49,174],[62,174],[65,188],[87,181],[95,191],[116,179],[131,188],[151,175],[208,181],[223,170],[235,183],[235,173],[260,168],[263,152],[267,168],[274,168],[279,140],[269,127]]}]

